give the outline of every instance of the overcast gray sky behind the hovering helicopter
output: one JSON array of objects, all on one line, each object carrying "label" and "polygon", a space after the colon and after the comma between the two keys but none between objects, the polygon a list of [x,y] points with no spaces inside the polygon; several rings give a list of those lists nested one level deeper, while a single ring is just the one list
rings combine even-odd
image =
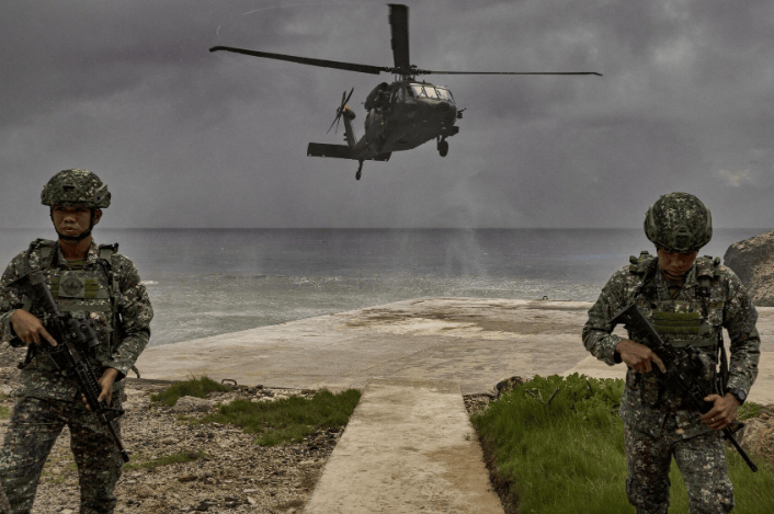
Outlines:
[{"label": "overcast gray sky behind the hovering helicopter", "polygon": [[392,66],[384,2],[10,0],[0,16],[0,227],[48,227],[57,171],[113,193],[119,227],[639,227],[686,191],[716,227],[774,227],[774,2],[409,2],[411,62],[459,107],[389,162],[306,157],[343,91],[380,77],[238,46]]}]

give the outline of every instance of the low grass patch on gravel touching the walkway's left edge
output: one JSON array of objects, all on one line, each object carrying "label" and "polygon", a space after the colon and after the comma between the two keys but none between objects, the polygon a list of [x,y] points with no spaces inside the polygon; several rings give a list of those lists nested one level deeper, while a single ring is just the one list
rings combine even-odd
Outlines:
[{"label": "low grass patch on gravel touching the walkway's left edge", "polygon": [[258,434],[261,446],[300,443],[317,430],[339,430],[346,424],[360,400],[357,389],[338,395],[321,390],[310,400],[291,397],[273,402],[237,399],[220,406],[217,413],[202,418],[201,423],[231,423],[248,434]]}]

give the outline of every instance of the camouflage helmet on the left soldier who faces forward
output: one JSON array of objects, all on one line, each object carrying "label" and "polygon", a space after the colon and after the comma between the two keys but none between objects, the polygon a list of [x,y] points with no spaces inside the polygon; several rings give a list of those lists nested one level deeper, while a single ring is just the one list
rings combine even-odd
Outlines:
[{"label": "camouflage helmet on the left soldier who faces forward", "polygon": [[107,186],[91,171],[62,170],[52,176],[41,193],[43,205],[103,209],[111,204]]}]

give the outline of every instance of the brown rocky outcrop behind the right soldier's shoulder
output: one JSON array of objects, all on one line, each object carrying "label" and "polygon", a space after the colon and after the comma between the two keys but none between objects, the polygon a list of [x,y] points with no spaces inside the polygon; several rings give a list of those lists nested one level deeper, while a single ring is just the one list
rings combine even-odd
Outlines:
[{"label": "brown rocky outcrop behind the right soldier's shoulder", "polygon": [[774,307],[774,231],[731,244],[722,260],[744,283],[754,305]]}]

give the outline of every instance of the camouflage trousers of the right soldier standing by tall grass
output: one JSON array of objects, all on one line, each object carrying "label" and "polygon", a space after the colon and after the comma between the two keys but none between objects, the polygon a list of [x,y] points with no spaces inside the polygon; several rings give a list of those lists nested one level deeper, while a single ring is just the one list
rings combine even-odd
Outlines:
[{"label": "camouflage trousers of the right soldier standing by tall grass", "polygon": [[726,470],[722,434],[709,432],[683,438],[667,418],[662,435],[625,432],[626,494],[638,514],[665,514],[669,510],[669,470],[672,457],[688,492],[691,514],[720,514],[733,509],[733,486]]}]

